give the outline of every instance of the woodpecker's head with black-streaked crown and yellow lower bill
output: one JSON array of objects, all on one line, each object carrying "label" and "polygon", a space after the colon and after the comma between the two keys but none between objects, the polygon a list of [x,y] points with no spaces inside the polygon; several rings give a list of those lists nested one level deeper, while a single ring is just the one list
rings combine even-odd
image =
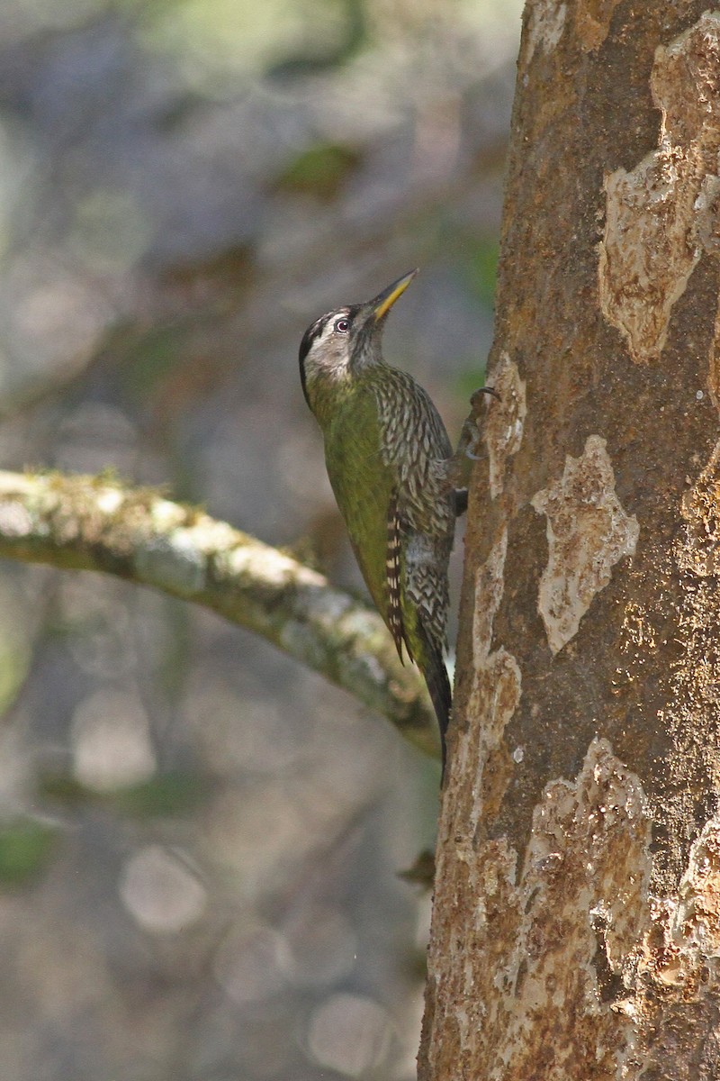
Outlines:
[{"label": "woodpecker's head with black-streaked crown and yellow lower bill", "polygon": [[367,304],[328,311],[310,324],[300,343],[300,382],[313,413],[321,400],[347,386],[368,364],[382,361],[388,312],[417,272],[403,275]]}]

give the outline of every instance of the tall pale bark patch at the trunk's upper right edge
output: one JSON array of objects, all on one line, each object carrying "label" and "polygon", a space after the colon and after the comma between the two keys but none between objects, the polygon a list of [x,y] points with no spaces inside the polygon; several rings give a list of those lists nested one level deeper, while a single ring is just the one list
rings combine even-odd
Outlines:
[{"label": "tall pale bark patch at the trunk's upper right edge", "polygon": [[720,14],[655,53],[650,88],[662,120],[657,149],[606,177],[599,299],[637,363],[656,360],[673,306],[704,252],[718,251]]}]

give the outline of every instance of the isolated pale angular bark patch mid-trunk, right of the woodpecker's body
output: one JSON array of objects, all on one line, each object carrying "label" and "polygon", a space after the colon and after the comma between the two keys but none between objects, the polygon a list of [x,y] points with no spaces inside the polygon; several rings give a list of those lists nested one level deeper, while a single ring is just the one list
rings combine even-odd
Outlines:
[{"label": "isolated pale angular bark patch mid-trunk, right of the woodpecker's body", "polygon": [[576,633],[612,569],[631,556],[639,535],[615,494],[615,477],[604,439],[590,436],[579,458],[566,458],[562,477],[531,501],[547,517],[547,566],[540,580],[538,610],[551,650],[557,653]]}]

